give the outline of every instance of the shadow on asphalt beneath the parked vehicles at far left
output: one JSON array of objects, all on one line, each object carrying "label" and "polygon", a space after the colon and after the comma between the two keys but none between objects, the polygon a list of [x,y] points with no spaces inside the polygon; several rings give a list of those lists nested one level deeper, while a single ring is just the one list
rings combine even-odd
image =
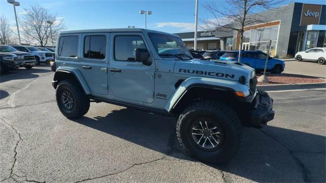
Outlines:
[{"label": "shadow on asphalt beneath the parked vehicles at far left", "polygon": [[37,66],[37,68],[33,67],[32,69],[20,68],[20,69],[16,69],[16,70],[11,70],[11,71],[7,72],[6,74],[3,74],[0,76],[0,83],[12,81],[12,80],[32,79],[32,78],[36,78],[39,76],[36,73],[51,72],[51,70],[43,69],[43,67],[48,68],[49,66],[40,65],[40,66]]}]

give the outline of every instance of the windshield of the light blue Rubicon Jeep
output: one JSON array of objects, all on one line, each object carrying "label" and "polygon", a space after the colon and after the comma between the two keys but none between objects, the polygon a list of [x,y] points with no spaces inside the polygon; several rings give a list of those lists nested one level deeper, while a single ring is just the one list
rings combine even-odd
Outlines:
[{"label": "windshield of the light blue Rubicon Jeep", "polygon": [[192,57],[184,42],[179,37],[159,33],[148,33],[148,35],[159,56],[174,57],[175,55],[185,55]]}]

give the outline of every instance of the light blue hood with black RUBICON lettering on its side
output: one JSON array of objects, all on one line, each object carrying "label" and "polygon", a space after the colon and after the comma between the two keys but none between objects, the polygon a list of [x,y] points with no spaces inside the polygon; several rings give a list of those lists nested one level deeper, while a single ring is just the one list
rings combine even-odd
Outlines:
[{"label": "light blue hood with black RUBICON lettering on its side", "polygon": [[173,72],[233,81],[239,81],[240,76],[245,76],[249,81],[255,69],[237,62],[192,59],[176,62]]}]

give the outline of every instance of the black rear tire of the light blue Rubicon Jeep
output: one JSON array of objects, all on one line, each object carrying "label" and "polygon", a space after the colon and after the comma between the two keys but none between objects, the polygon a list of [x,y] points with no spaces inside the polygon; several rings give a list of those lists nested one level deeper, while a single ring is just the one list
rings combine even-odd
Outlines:
[{"label": "black rear tire of the light blue Rubicon Jeep", "polygon": [[[74,100],[74,106],[68,110],[62,100],[63,92],[69,91]],[[90,108],[90,99],[74,80],[63,80],[56,90],[57,104],[61,113],[69,119],[78,119],[84,116]]]}]

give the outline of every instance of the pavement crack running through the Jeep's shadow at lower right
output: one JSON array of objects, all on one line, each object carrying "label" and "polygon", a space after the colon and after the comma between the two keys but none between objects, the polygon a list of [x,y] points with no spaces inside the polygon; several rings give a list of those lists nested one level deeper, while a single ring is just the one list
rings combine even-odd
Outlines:
[{"label": "pavement crack running through the Jeep's shadow at lower right", "polygon": [[[297,153],[298,151],[292,151],[289,147],[287,147],[286,145],[284,145],[282,142],[280,142],[279,140],[277,140],[276,138],[274,138],[273,136],[268,135],[267,133],[265,133],[262,129],[259,129],[260,132],[262,132],[265,136],[267,136],[270,139],[273,139],[274,141],[276,141],[277,143],[279,143],[280,145],[282,145],[285,149],[287,149],[289,151],[290,156],[292,157],[292,159],[295,161],[295,163],[302,168],[302,174],[303,174],[303,178],[305,182],[311,182],[310,178],[309,178],[309,174],[311,173],[308,168],[304,165],[304,163],[298,159],[294,153]],[[304,153],[304,152],[303,152]],[[317,152],[319,153],[319,152]],[[322,153],[322,152],[320,152]]]}]

